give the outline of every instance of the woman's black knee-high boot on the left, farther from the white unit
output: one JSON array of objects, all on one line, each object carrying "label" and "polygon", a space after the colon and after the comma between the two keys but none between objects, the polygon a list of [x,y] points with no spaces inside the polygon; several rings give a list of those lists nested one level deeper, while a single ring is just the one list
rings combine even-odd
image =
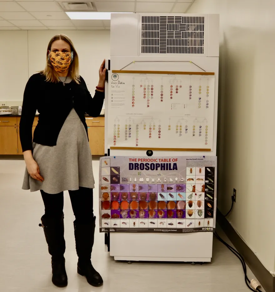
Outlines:
[{"label": "woman's black knee-high boot on the left, farther from the white unit", "polygon": [[58,287],[68,285],[65,269],[65,239],[64,239],[64,214],[56,218],[41,218],[45,238],[48,244],[49,254],[52,256],[52,282]]}]

